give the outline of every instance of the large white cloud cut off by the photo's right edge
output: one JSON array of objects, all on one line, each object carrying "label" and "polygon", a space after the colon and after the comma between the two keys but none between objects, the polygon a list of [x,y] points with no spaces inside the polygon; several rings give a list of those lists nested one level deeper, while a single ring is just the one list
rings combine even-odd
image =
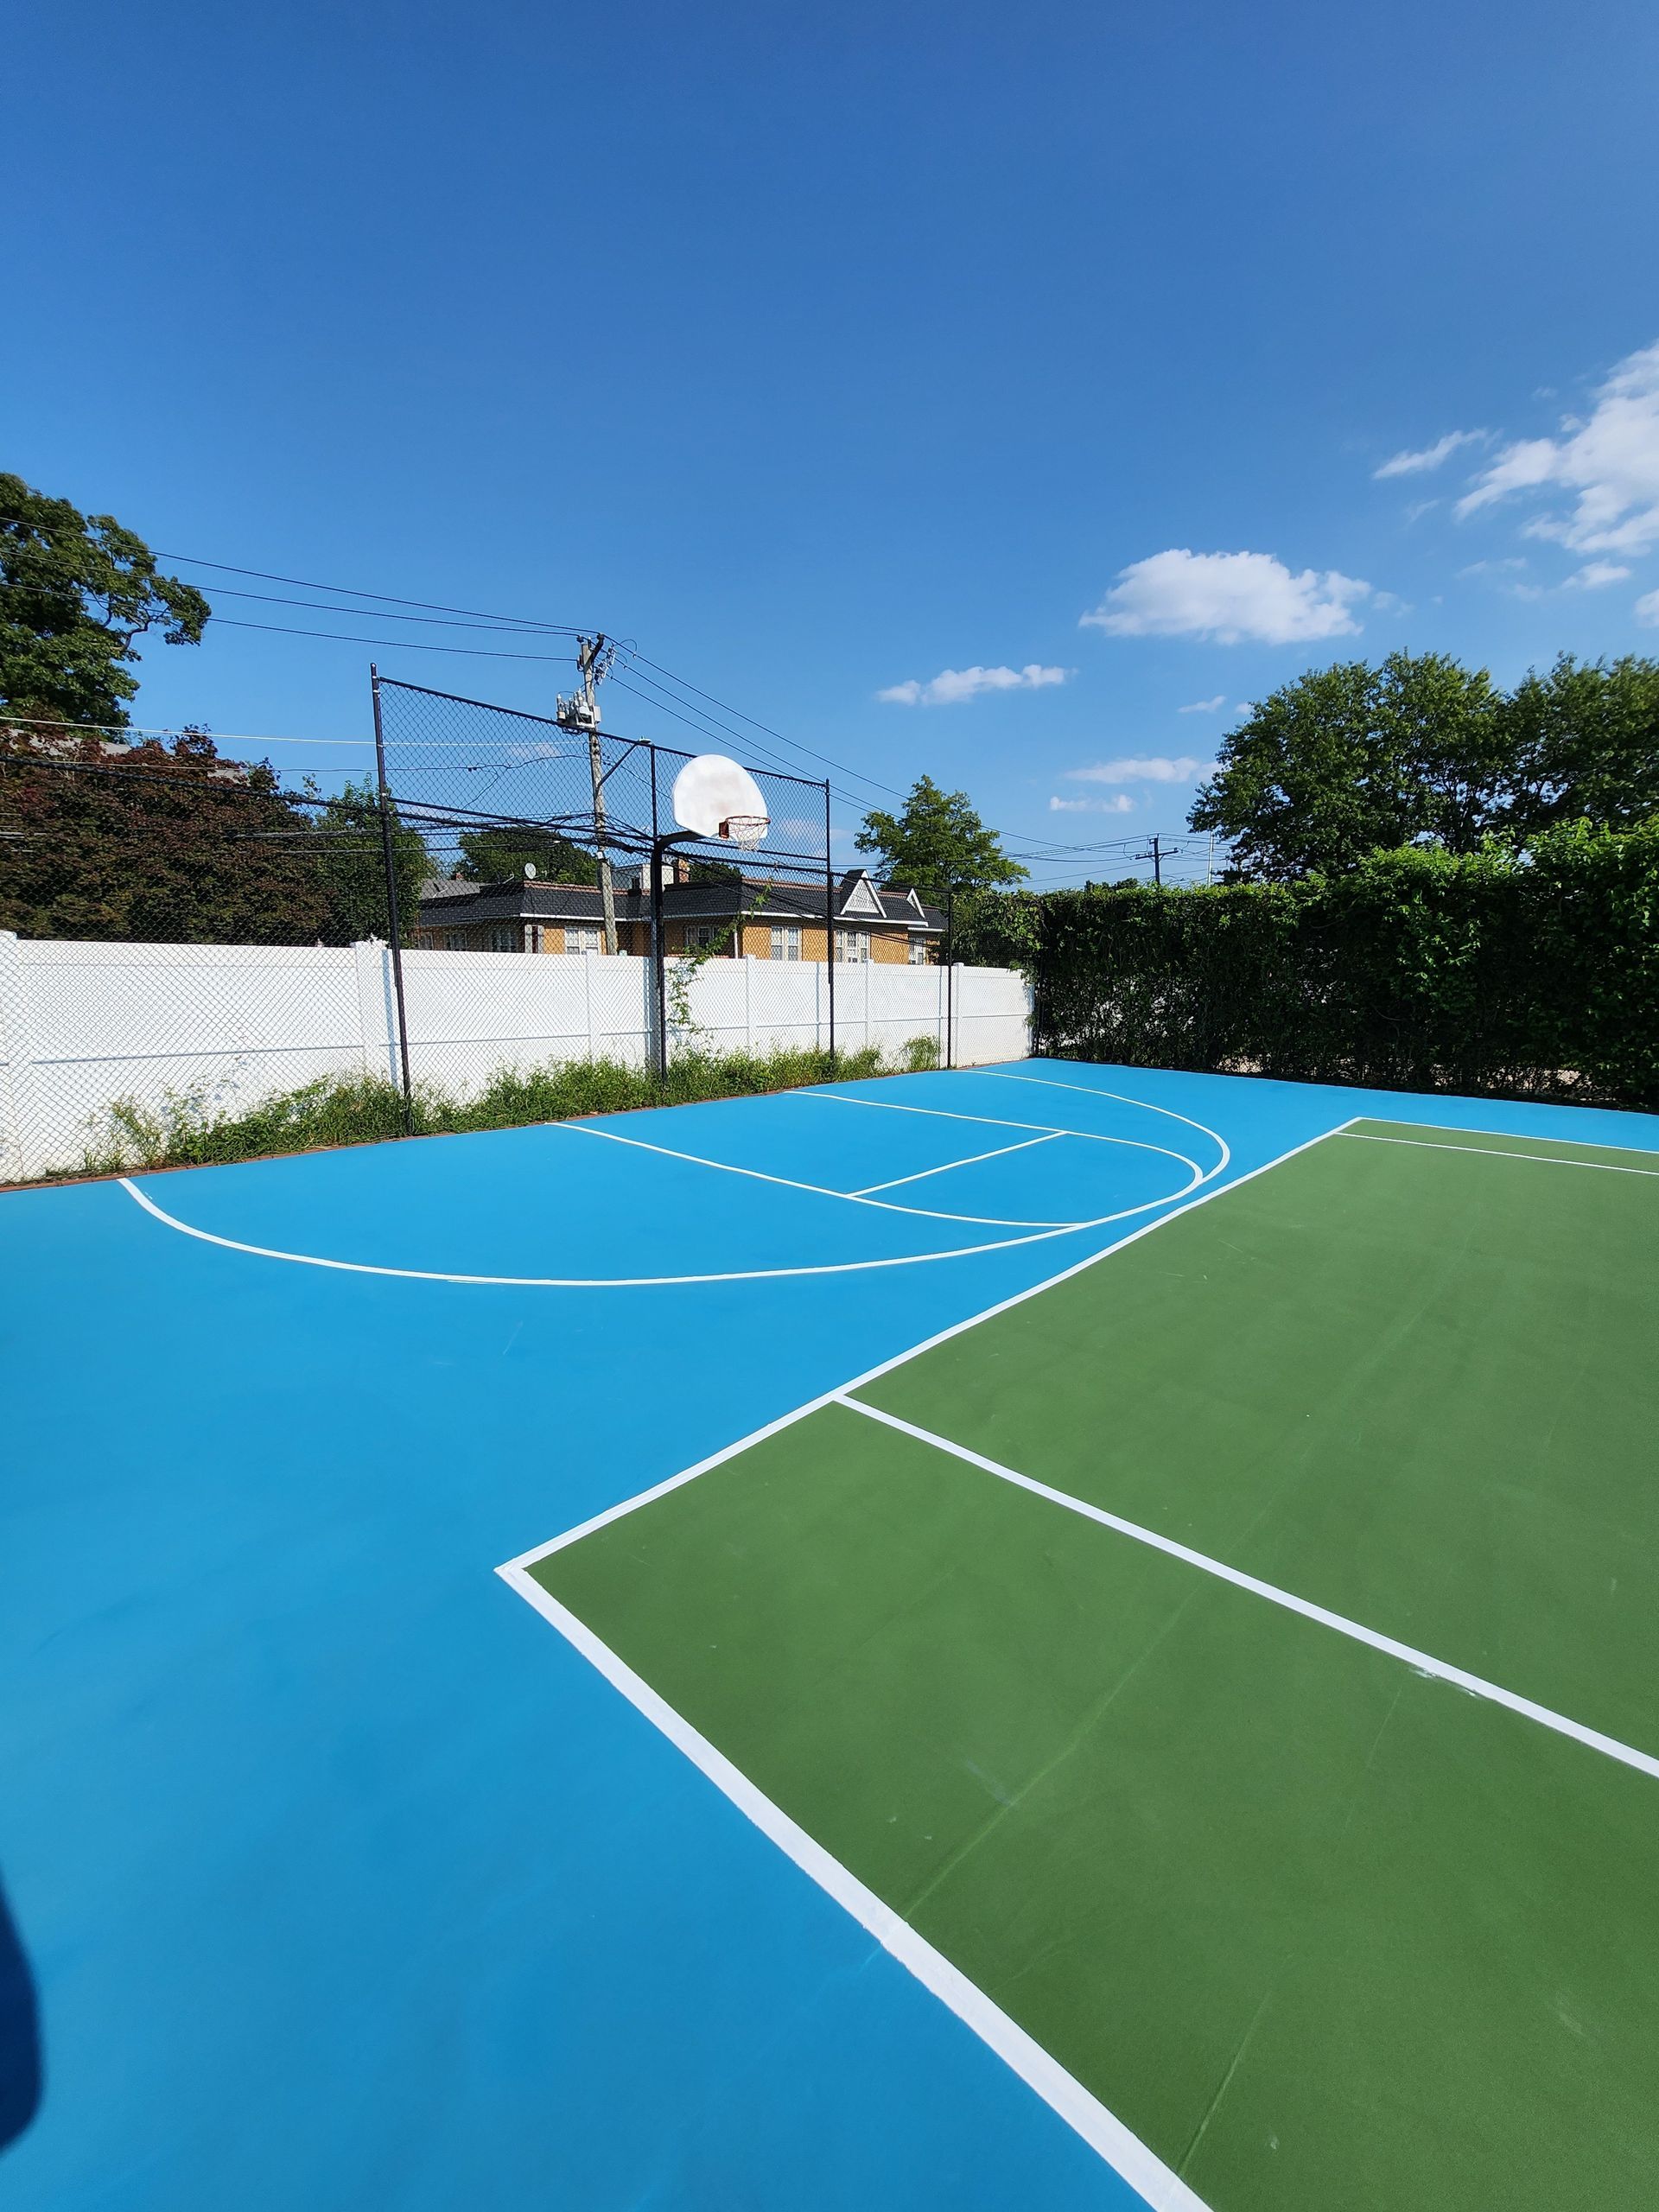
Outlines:
[{"label": "large white cloud cut off by the photo's right edge", "polygon": [[1575,491],[1577,502],[1568,513],[1537,515],[1528,538],[1577,553],[1641,553],[1659,540],[1659,345],[1610,372],[1588,420],[1564,416],[1559,438],[1506,445],[1458,500],[1458,518],[1553,484]]}]

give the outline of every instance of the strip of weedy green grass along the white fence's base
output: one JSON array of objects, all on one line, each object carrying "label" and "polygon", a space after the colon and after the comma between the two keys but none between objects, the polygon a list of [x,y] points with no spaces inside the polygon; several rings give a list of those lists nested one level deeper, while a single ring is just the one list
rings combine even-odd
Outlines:
[{"label": "strip of weedy green grass along the white fence's base", "polygon": [[471,1097],[453,1095],[440,1084],[418,1084],[407,1117],[403,1091],[383,1075],[327,1075],[296,1091],[281,1091],[241,1113],[223,1110],[206,1093],[168,1091],[159,1104],[126,1097],[108,1106],[80,1166],[62,1172],[122,1175],[133,1168],[223,1166],[276,1152],[312,1152],[323,1146],[522,1128],[531,1121],[757,1097],[765,1091],[796,1091],[803,1084],[856,1082],[936,1066],[938,1046],[931,1037],[911,1037],[896,1062],[876,1046],[836,1053],[834,1060],[823,1051],[684,1053],[666,1075],[619,1060],[549,1060],[533,1068],[502,1068]]}]

